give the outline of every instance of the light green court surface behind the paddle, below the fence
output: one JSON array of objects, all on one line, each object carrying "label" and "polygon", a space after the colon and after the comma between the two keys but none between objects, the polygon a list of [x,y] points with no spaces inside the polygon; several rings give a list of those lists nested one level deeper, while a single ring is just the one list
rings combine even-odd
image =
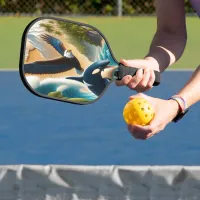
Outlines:
[{"label": "light green court surface behind the paddle, below the fence", "polygon": [[[66,17],[67,18],[67,17]],[[31,17],[0,17],[0,68],[18,69],[21,36]],[[155,17],[79,17],[67,18],[97,27],[108,39],[119,60],[142,58],[156,29]],[[182,58],[172,68],[196,68],[200,64],[200,28],[197,17],[187,17],[188,42]]]}]

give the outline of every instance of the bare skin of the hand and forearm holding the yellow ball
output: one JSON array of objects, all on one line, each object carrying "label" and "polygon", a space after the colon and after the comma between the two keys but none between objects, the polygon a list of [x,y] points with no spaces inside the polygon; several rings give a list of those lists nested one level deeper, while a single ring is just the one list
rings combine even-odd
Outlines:
[{"label": "bare skin of the hand and forearm holding the yellow ball", "polygon": [[[200,66],[194,71],[192,77],[185,86],[177,93],[183,97],[188,107],[200,101]],[[131,126],[128,130],[136,139],[146,140],[162,131],[179,112],[179,105],[174,100],[164,100],[153,98],[145,94],[137,94],[130,97],[134,99],[138,96],[146,98],[155,108],[155,117],[148,126]]]}]

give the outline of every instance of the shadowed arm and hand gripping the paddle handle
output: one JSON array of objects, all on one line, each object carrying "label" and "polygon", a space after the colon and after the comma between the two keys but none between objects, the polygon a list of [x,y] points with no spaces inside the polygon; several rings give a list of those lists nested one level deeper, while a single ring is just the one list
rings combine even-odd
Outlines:
[{"label": "shadowed arm and hand gripping the paddle handle", "polygon": [[[184,0],[156,0],[155,6],[157,30],[148,55],[154,54],[158,48],[161,48],[169,55],[170,63],[168,66],[170,66],[181,57],[186,46]],[[121,81],[116,81],[117,86],[126,85],[137,92],[144,92],[152,88],[155,81],[153,70],[162,73],[168,67],[159,66],[158,62],[151,56],[140,60],[121,59],[120,62],[125,66],[141,68],[134,77],[125,76]],[[144,73],[142,73],[142,69],[144,69]]]}]

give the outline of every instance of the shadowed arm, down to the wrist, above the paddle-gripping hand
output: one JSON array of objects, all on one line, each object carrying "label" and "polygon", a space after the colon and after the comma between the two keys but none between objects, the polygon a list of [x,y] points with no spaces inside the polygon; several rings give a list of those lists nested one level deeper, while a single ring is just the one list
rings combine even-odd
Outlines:
[{"label": "shadowed arm, down to the wrist, above the paddle-gripping hand", "polygon": [[183,54],[186,41],[184,0],[155,0],[157,31],[150,45],[147,59],[154,58],[163,72]]}]

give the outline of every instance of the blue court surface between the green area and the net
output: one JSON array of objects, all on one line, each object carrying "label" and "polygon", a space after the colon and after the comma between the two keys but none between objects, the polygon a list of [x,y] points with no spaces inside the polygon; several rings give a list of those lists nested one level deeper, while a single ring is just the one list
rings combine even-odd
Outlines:
[{"label": "blue court surface between the green area and the net", "polygon": [[[165,72],[148,94],[168,98],[192,72]],[[39,98],[18,72],[0,72],[0,164],[199,165],[200,104],[147,141],[127,131],[122,110],[135,92],[113,83],[95,104]]]}]

